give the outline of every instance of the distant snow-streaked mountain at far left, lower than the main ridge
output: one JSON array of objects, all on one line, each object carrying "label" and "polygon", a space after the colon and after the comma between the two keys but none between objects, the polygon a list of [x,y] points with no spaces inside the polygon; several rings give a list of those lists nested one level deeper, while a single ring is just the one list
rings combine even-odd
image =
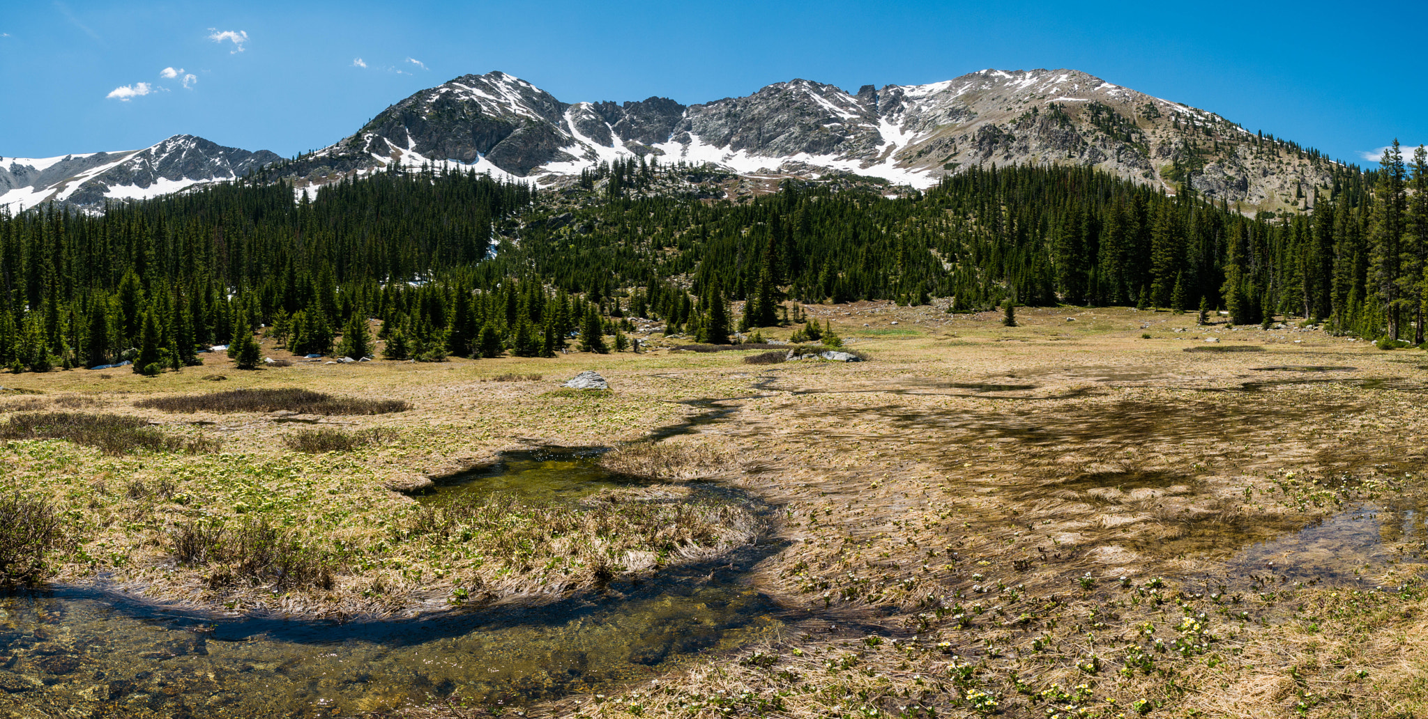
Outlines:
[{"label": "distant snow-streaked mountain at far left, lower than the main ridge", "polygon": [[106,200],[140,200],[241,177],[280,160],[258,150],[173,136],[143,150],[64,157],[0,157],[0,207],[17,213],[40,203],[99,208]]}]

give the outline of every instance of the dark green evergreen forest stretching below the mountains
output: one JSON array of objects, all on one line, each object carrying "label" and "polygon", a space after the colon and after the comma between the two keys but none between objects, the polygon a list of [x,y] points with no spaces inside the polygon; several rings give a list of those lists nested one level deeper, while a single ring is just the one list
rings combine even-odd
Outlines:
[{"label": "dark green evergreen forest stretching below the mountains", "polygon": [[[1312,213],[1245,217],[1078,167],[971,168],[925,191],[784,181],[711,200],[704,168],[617,161],[560,193],[380,171],[294,201],[261,173],[103,214],[0,214],[0,364],[157,374],[253,332],[297,354],[625,350],[631,318],[728,342],[788,301],[1218,310],[1424,342],[1428,157],[1339,167]],[[854,178],[857,180],[857,178]],[[733,312],[731,302],[743,301]],[[634,345],[637,348],[637,345]]]}]

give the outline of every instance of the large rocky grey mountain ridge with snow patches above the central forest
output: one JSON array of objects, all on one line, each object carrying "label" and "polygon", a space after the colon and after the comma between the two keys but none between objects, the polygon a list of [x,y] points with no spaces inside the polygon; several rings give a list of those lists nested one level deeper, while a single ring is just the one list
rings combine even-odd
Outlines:
[{"label": "large rocky grey mountain ridge with snow patches above the central forest", "polygon": [[1080,164],[1171,191],[1188,183],[1258,208],[1308,203],[1312,187],[1329,183],[1327,163],[1255,143],[1214,113],[1077,70],[982,70],[855,94],[793,80],[693,106],[661,97],[567,104],[496,71],[416,93],[281,173],[301,185],[433,163],[544,185],[644,155],[740,174],[853,173],[928,187],[974,165]]}]

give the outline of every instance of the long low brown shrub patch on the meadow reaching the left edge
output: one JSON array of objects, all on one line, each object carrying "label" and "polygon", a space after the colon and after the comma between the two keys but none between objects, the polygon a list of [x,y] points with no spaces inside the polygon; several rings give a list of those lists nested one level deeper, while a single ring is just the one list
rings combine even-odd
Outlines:
[{"label": "long low brown shrub patch on the meadow reaching the left edge", "polygon": [[140,417],[91,412],[19,412],[0,425],[4,439],[67,439],[97,447],[109,455],[147,449],[150,452],[213,452],[218,444],[207,438],[170,437]]}]

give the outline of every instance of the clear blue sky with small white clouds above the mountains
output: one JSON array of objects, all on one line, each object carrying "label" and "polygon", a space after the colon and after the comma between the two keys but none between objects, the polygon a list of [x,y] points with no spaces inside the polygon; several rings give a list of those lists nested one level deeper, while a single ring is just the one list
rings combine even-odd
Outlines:
[{"label": "clear blue sky with small white clouds above the mountains", "polygon": [[1428,141],[1424,29],[1422,1],[7,1],[0,157],[177,133],[293,155],[490,70],[567,103],[698,103],[1072,67],[1362,161]]}]

